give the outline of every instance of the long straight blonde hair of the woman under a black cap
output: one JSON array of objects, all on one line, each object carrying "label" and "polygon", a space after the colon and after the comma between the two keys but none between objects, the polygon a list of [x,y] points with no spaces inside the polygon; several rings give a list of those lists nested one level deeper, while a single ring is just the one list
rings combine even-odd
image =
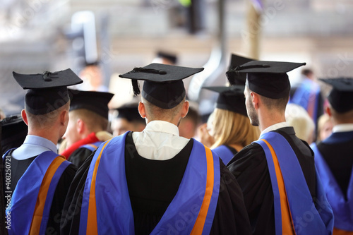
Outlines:
[{"label": "long straight blonde hair of the woman under a black cap", "polygon": [[215,143],[210,148],[232,144],[245,147],[260,135],[258,126],[252,126],[247,116],[225,109],[215,109],[212,115]]}]

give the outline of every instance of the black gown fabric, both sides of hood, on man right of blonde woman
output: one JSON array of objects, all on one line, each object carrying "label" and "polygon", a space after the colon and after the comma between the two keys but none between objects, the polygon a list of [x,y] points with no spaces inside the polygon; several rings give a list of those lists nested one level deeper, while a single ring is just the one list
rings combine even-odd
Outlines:
[{"label": "black gown fabric, both sides of hood, on man right of blonde woman", "polygon": [[[313,151],[309,145],[295,136],[294,128],[277,129],[292,146],[304,173],[313,198],[316,198],[316,171]],[[227,164],[236,177],[244,195],[253,234],[275,234],[275,209],[270,173],[261,145],[251,143],[237,153]]]}]

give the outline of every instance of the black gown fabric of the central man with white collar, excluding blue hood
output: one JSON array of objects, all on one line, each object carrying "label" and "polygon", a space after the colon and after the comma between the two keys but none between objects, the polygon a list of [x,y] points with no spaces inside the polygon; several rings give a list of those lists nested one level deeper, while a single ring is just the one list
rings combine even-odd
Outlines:
[{"label": "black gown fabric of the central man with white collar, excluding blue hood", "polygon": [[[133,209],[135,234],[150,234],[177,193],[193,146],[193,139],[178,155],[165,161],[138,155],[132,133],[126,137],[126,181]],[[78,234],[80,205],[93,154],[78,169],[61,217],[61,234]],[[251,234],[239,184],[220,160],[220,195],[210,234]]]}]

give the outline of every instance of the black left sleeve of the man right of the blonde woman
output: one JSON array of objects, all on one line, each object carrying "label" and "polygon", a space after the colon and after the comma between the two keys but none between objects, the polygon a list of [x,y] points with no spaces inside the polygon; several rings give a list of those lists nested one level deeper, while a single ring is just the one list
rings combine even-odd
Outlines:
[{"label": "black left sleeve of the man right of the blonde woman", "polygon": [[227,167],[243,192],[253,234],[275,234],[272,184],[261,145],[244,147]]}]

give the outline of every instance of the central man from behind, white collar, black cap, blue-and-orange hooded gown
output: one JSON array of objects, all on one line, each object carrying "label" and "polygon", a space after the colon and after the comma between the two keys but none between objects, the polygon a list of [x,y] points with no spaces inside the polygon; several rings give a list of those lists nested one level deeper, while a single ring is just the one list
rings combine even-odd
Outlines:
[{"label": "central man from behind, white collar, black cap, blue-and-orange hooded gown", "polygon": [[182,79],[201,71],[150,64],[121,75],[136,95],[145,80],[138,111],[147,126],[103,143],[80,167],[62,234],[251,234],[234,176],[208,147],[179,136],[189,109]]}]

